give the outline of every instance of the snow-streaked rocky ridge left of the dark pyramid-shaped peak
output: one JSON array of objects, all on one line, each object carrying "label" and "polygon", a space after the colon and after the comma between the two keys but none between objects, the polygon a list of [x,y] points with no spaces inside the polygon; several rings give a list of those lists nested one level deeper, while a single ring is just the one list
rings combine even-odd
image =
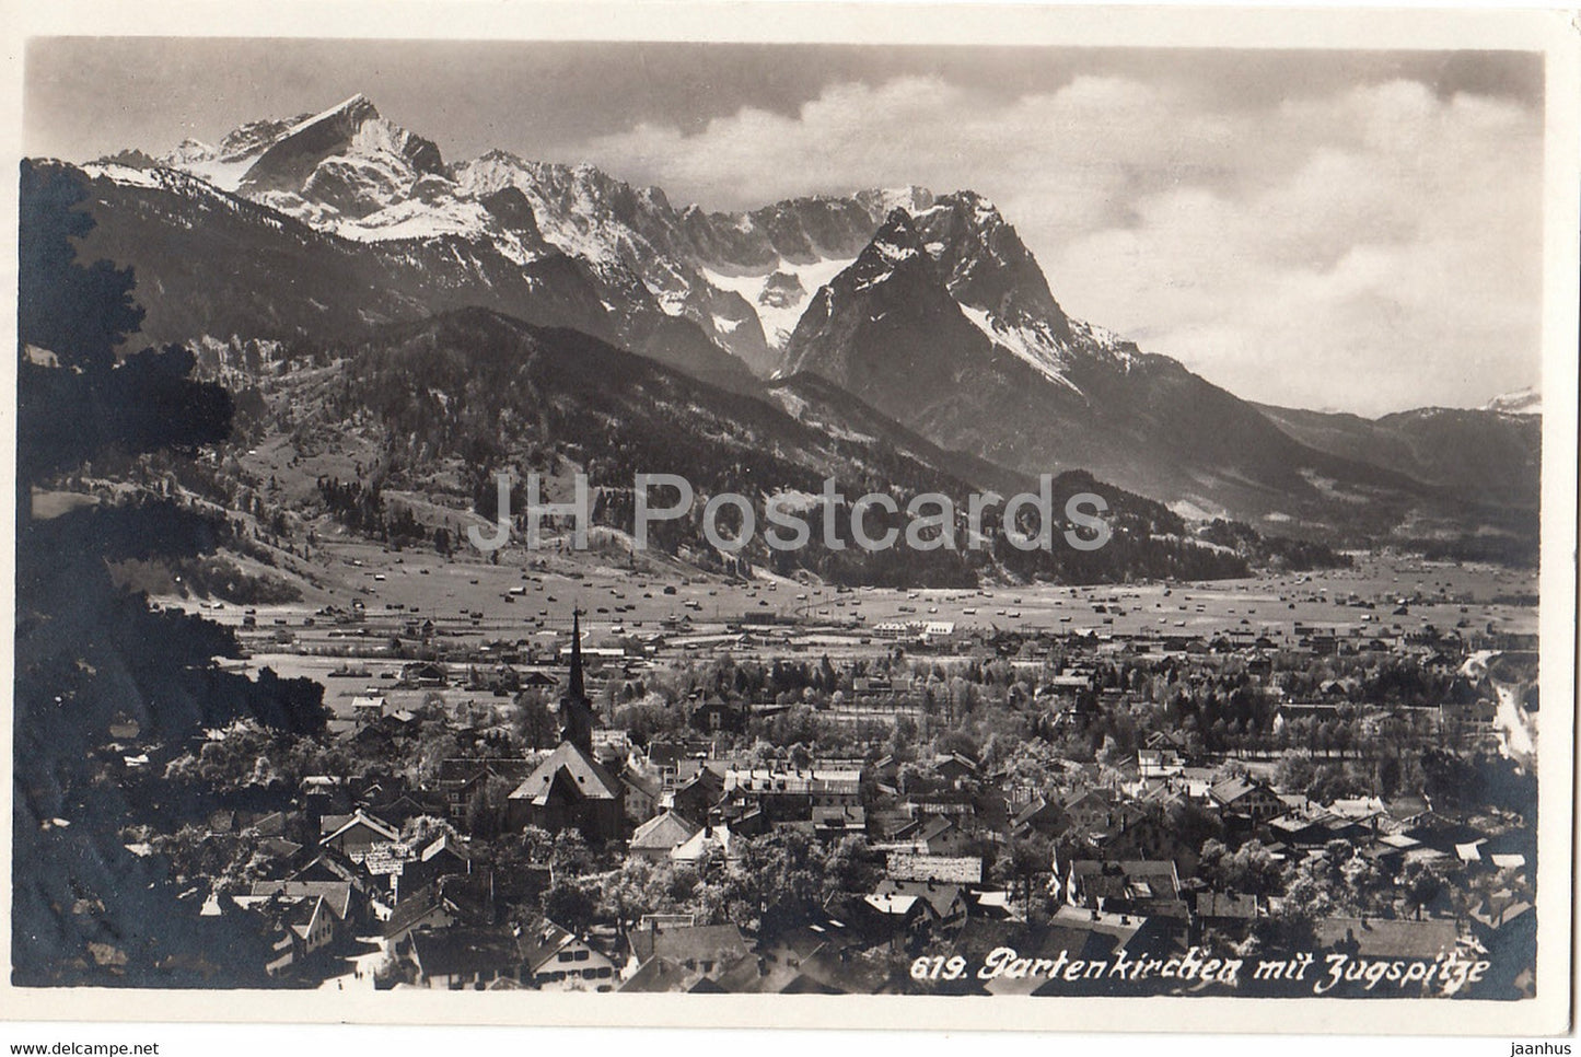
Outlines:
[{"label": "snow-streaked rocky ridge left of the dark pyramid-shaped peak", "polygon": [[[157,164],[359,242],[455,235],[493,242],[523,264],[545,250],[568,253],[617,295],[645,288],[643,308],[688,319],[759,374],[778,367],[806,295],[855,256],[884,210],[930,197],[907,188],[751,213],[677,212],[659,188],[591,166],[503,150],[446,164],[432,141],[387,122],[362,95],[316,115],[253,122],[217,147],[187,141]],[[533,210],[541,240],[512,237],[487,207],[506,188]]]}]

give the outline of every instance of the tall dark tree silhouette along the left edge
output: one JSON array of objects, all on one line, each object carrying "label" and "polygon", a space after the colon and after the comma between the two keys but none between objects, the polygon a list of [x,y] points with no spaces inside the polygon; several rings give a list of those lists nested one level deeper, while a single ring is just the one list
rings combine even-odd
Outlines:
[{"label": "tall dark tree silhouette along the left edge", "polygon": [[[221,671],[215,657],[242,656],[229,629],[153,611],[111,578],[114,562],[212,553],[232,536],[226,518],[179,506],[157,488],[32,517],[35,485],[58,487],[60,474],[101,452],[190,455],[228,438],[234,414],[223,387],[188,378],[196,362],[188,349],[147,349],[115,363],[142,310],[130,299],[130,270],[76,261],[73,240],[93,224],[77,209],[85,201],[81,180],[62,166],[22,166],[17,337],[49,355],[24,352],[17,363],[13,858],[28,886],[13,907],[13,980],[250,986],[247,965],[262,961],[237,943],[218,956],[226,943],[217,945],[206,923],[188,921],[163,856],[134,856],[119,834],[123,825],[166,817],[171,801],[191,814],[212,811],[212,790],[175,796],[160,779],[95,782],[92,750],[120,713],[166,744],[248,717],[269,732],[270,746],[234,777],[255,803],[270,803],[267,788],[285,758],[277,749],[324,727],[323,687],[272,671],[256,679]],[[204,766],[202,754],[196,766]],[[66,815],[77,825],[44,829],[44,820]],[[103,910],[92,918],[57,912],[79,901]],[[161,929],[147,942],[119,943],[123,961],[114,973],[92,956],[89,943],[149,935],[149,921]],[[220,978],[206,975],[215,964]]]}]

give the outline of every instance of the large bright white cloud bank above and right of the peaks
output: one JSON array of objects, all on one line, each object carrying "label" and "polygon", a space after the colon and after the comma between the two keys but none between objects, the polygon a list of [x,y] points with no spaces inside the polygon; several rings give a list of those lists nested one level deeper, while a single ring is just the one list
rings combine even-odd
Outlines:
[{"label": "large bright white cloud bank above and right of the peaks", "polygon": [[1538,381],[1541,117],[1394,81],[1203,109],[1135,77],[1002,100],[840,84],[587,144],[674,201],[975,188],[1080,318],[1255,400],[1382,412]]}]

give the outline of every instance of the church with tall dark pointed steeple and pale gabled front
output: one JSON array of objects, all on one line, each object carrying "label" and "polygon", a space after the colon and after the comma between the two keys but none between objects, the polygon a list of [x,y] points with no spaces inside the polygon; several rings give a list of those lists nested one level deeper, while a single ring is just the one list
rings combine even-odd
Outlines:
[{"label": "church with tall dark pointed steeple and pale gabled front", "polygon": [[593,702],[582,671],[582,611],[571,615],[571,675],[560,698],[560,744],[511,793],[517,826],[580,829],[588,844],[617,841],[626,826],[626,787],[593,754]]}]

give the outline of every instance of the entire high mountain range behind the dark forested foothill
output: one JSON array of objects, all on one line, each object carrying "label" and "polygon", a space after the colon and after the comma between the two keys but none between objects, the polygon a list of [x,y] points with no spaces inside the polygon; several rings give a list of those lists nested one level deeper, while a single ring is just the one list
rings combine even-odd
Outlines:
[{"label": "entire high mountain range behind the dark forested foothill", "polygon": [[1070,319],[968,190],[677,210],[591,166],[447,163],[360,95],[76,172],[98,221],[84,254],[136,267],[158,341],[356,343],[477,307],[741,395],[817,386],[950,458],[1091,471],[1189,518],[1377,540],[1519,536],[1510,509],[1537,507],[1537,416],[1240,400]]}]

